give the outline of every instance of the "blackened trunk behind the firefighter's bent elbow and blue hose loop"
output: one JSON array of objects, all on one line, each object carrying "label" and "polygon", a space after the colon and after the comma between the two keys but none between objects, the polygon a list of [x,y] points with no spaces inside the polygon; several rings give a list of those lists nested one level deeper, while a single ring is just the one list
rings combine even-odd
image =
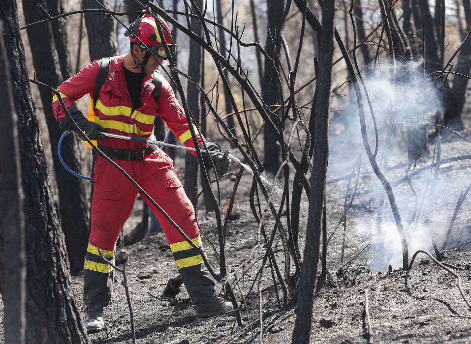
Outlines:
[{"label": "blackened trunk behind the firefighter's bent elbow and blue hose loop", "polygon": [[[44,1],[42,4],[46,5]],[[23,12],[27,23],[46,18],[45,14],[38,10],[34,1],[23,0]],[[36,78],[47,85],[57,87],[63,82],[63,75],[49,23],[51,22],[28,28],[27,33]],[[70,66],[67,67],[66,73],[70,74]],[[86,184],[63,168],[56,149],[63,132],[52,114],[52,94],[44,87],[39,88],[39,93],[49,130],[49,141],[53,148],[54,170],[59,190],[59,210],[70,260],[70,272],[72,275],[77,275],[83,269],[90,226]],[[81,146],[81,140],[76,135],[69,135],[62,144],[65,163],[73,171],[79,173],[82,172],[83,166],[80,156]]]}]

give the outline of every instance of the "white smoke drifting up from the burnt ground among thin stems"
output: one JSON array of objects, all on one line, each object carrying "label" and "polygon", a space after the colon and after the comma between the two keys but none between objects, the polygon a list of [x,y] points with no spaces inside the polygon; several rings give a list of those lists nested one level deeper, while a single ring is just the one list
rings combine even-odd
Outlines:
[{"label": "white smoke drifting up from the burnt ground among thin stems", "polygon": [[[382,172],[387,172],[388,180],[393,182],[404,177],[406,169],[413,163],[408,158],[408,147],[414,146],[417,139],[423,140],[423,124],[434,124],[437,111],[442,110],[441,94],[437,89],[440,85],[424,80],[422,61],[397,63],[395,73],[391,65],[380,64],[369,73],[363,72],[362,75],[378,128],[376,160]],[[361,85],[360,87],[363,93],[368,138],[372,151],[375,151],[372,116],[363,87]],[[353,89],[351,91],[353,92]],[[331,109],[335,110],[335,107],[345,108],[345,104],[336,104],[334,101]],[[431,132],[431,127],[428,127],[428,131]],[[347,110],[331,120],[329,140],[329,174],[349,175],[359,155],[365,154],[354,94],[350,97]],[[417,168],[432,163],[433,145],[430,148],[429,143],[428,146],[431,149],[430,157],[420,159]],[[446,147],[442,146],[442,159],[449,156]],[[382,161],[386,157],[389,171],[382,166]],[[382,220],[377,222],[378,200],[384,195],[384,190],[365,155],[362,161],[359,188],[362,192],[368,190],[368,197],[374,200],[372,208],[375,212],[370,212],[361,219],[356,218],[354,228],[347,231],[355,231],[360,236],[369,238],[367,261],[372,268],[385,270],[389,264],[393,268],[401,267],[401,242],[389,201],[387,198],[384,199]],[[413,165],[409,173],[412,170]],[[444,172],[441,172],[439,179],[435,180],[434,173],[426,172],[412,179],[417,199],[407,183],[393,188],[408,239],[409,258],[417,249],[431,250],[432,237],[440,247],[460,191],[467,186],[467,183],[468,179],[450,179]],[[463,207],[465,206],[464,204]],[[363,220],[365,218],[368,220]]]}]

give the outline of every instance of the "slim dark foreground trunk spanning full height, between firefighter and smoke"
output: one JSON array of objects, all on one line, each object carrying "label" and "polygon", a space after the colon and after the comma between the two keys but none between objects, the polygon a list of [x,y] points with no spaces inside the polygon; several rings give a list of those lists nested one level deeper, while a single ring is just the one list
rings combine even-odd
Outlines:
[{"label": "slim dark foreground trunk spanning full height, between firefighter and smoke", "polygon": [[334,51],[335,1],[325,0],[322,5],[322,34],[320,38],[319,69],[314,119],[314,161],[311,174],[309,217],[306,228],[304,264],[299,283],[298,309],[292,343],[309,343],[313,326],[314,288],[319,260],[319,239],[322,230],[322,210],[325,199],[325,179],[329,156],[328,124],[332,57]]}]

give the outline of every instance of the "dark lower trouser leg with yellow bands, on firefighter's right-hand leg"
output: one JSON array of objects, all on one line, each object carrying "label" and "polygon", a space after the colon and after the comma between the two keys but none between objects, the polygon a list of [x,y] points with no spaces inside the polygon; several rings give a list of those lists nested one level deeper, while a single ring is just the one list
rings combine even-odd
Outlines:
[{"label": "dark lower trouser leg with yellow bands, on firefighter's right-hand leg", "polygon": [[[202,248],[199,236],[192,241]],[[204,265],[199,250],[187,241],[170,244],[170,249],[191,302],[196,303],[217,294],[216,281]]]}]

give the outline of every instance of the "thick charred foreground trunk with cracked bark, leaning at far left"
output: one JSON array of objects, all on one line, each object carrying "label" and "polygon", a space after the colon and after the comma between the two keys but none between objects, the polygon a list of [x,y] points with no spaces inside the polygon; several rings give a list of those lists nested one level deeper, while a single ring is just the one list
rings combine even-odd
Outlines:
[{"label": "thick charred foreground trunk with cracked bark, leaning at far left", "polygon": [[27,258],[26,342],[89,343],[70,286],[67,252],[31,98],[15,0],[0,2],[18,115]]}]

